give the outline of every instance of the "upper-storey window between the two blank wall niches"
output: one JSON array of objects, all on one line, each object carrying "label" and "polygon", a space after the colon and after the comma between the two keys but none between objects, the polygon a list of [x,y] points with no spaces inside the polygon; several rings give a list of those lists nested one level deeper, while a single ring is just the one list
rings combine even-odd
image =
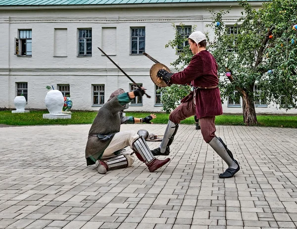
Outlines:
[{"label": "upper-storey window between the two blank wall niches", "polygon": [[92,29],[78,30],[78,55],[92,56]]}]

